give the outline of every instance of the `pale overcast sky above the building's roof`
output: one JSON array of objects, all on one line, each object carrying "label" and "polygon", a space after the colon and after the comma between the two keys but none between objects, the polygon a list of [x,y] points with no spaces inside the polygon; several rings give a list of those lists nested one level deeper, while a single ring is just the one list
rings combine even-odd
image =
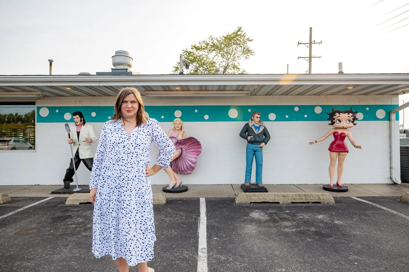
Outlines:
[{"label": "pale overcast sky above the building's roof", "polygon": [[[129,51],[131,71],[170,74],[182,49],[242,26],[256,55],[250,74],[407,73],[409,0],[0,0],[0,75],[110,71],[116,50]],[[386,14],[393,11],[389,14]],[[396,23],[390,27],[389,25]],[[383,27],[387,27],[382,29]]]}]

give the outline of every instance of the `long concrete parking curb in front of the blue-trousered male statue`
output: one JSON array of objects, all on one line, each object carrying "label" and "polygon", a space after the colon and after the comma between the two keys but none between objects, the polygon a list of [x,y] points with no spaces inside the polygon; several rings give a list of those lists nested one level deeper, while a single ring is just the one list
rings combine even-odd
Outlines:
[{"label": "long concrete parking curb in front of the blue-trousered male statue", "polygon": [[335,204],[334,198],[328,193],[239,193],[236,204],[255,202],[275,202],[280,204],[319,202]]}]

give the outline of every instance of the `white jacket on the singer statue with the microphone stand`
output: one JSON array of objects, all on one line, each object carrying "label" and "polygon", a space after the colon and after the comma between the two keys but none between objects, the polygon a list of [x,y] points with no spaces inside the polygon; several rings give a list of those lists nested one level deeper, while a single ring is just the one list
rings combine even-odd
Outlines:
[{"label": "white jacket on the singer statue with the microphone stand", "polygon": [[[79,133],[79,141],[76,133],[76,125],[70,125],[70,136],[72,138],[72,153],[77,151],[79,149],[79,158],[93,158],[94,157],[94,152],[92,151],[92,144],[96,143],[98,138],[97,134],[95,134],[95,127],[94,125],[91,125],[90,123],[85,123],[85,125],[82,125],[81,131]],[[85,138],[90,138],[92,139],[92,143],[87,143],[83,142]]]}]

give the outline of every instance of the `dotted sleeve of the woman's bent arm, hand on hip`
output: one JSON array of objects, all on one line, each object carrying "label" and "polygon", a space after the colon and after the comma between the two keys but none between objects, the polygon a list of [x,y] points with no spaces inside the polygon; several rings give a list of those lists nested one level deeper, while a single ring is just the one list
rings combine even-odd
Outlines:
[{"label": "dotted sleeve of the woman's bent arm, hand on hip", "polygon": [[175,154],[175,145],[173,145],[171,139],[165,134],[163,129],[160,128],[156,119],[153,119],[153,132],[152,140],[159,147],[160,155],[155,161],[155,165],[159,165],[162,168],[168,168],[171,164],[173,154]]}]

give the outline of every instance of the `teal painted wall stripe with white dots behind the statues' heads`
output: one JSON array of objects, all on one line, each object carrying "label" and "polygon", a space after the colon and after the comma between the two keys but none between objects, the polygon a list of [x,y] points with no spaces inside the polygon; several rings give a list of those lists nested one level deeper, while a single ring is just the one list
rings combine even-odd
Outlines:
[{"label": "teal painted wall stripe with white dots behind the statues' heads", "polygon": [[[332,108],[345,110],[350,107],[363,115],[363,121],[388,121],[389,112],[398,105],[145,106],[145,110],[149,117],[160,122],[172,122],[179,114],[187,122],[242,122],[249,120],[253,111],[260,111],[264,121],[283,122],[325,121],[326,113]],[[71,113],[74,111],[81,111],[87,122],[106,122],[112,117],[114,107],[37,107],[37,123],[66,123],[73,120]],[[398,114],[396,118],[399,120]]]}]

